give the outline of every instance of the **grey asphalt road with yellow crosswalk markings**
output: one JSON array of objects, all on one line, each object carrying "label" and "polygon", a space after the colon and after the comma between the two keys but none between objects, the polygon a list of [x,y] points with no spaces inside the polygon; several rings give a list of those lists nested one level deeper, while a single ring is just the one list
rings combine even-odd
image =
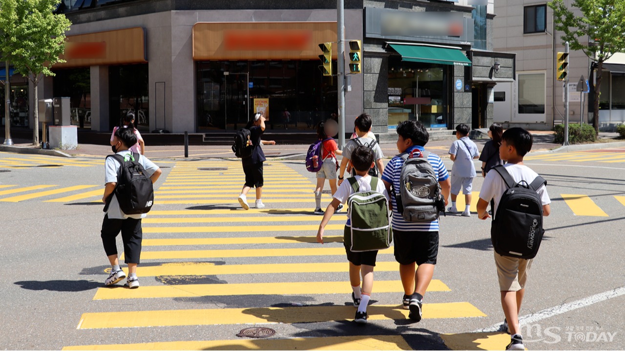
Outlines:
[{"label": "grey asphalt road with yellow crosswalk markings", "polygon": [[[625,349],[624,151],[527,157],[552,199],[521,310],[527,349]],[[267,207],[247,212],[236,202],[240,162],[159,165],[141,287],[110,289],[94,202],[102,160],[0,153],[2,348],[502,349],[509,341],[493,330],[503,315],[490,224],[475,214],[441,220],[437,282],[418,324],[398,308],[392,250],[381,252],[362,327],[351,321],[340,240],[312,240],[321,217],[312,215],[314,174],[302,161],[267,162]],[[181,212],[165,212],[173,210]],[[342,224],[335,215],[326,236],[342,235]],[[276,334],[236,336],[254,326]]]}]

